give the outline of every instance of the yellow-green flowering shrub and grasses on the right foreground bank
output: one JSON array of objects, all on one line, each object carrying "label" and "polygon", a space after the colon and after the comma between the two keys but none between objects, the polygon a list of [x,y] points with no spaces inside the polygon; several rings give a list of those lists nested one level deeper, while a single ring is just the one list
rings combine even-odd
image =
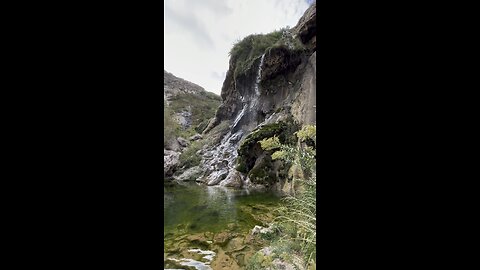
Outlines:
[{"label": "yellow-green flowering shrub and grasses on the right foreground bank", "polygon": [[[316,127],[305,126],[296,132],[299,138],[294,147],[280,142],[278,137],[266,138],[260,141],[263,149],[274,151],[272,159],[280,159],[292,168],[301,168],[301,174],[293,174],[291,181],[301,184],[301,189],[294,196],[284,199],[284,206],[278,211],[278,224],[281,226],[285,239],[279,241],[277,254],[297,250],[305,262],[315,264],[316,255],[316,163],[314,147],[305,145],[310,141],[316,144]],[[300,246],[295,247],[298,243]],[[284,250],[282,250],[284,249]]]}]

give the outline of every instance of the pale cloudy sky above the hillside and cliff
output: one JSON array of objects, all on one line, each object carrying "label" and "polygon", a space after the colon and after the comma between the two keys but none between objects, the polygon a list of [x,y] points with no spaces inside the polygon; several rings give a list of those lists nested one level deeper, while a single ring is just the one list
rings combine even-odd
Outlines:
[{"label": "pale cloudy sky above the hillside and cliff", "polygon": [[312,0],[165,0],[164,69],[220,94],[233,44],[294,27]]}]

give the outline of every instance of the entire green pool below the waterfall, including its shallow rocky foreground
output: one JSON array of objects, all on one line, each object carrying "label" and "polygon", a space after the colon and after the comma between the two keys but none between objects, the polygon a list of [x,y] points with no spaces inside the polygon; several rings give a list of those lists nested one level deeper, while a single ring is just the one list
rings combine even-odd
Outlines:
[{"label": "entire green pool below the waterfall, including its shallow rocky foreground", "polygon": [[280,196],[195,183],[164,186],[164,269],[244,269]]}]

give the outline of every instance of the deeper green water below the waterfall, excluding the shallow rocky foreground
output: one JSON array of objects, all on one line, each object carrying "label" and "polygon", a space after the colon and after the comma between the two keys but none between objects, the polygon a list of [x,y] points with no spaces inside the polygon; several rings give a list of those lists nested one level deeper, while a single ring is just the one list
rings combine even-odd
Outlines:
[{"label": "deeper green water below the waterfall, excluding the shallow rocky foreground", "polygon": [[[195,183],[164,187],[164,235],[220,232],[235,228],[250,231],[273,216],[280,197]],[[233,224],[233,225],[232,225]]]}]

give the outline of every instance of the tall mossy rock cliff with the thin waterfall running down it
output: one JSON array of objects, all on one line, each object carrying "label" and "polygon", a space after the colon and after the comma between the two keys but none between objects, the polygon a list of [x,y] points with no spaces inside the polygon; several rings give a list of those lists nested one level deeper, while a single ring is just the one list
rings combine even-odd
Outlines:
[{"label": "tall mossy rock cliff with the thin waterfall running down it", "polygon": [[274,38],[258,52],[255,44],[266,37],[251,37],[253,45],[245,41],[230,58],[222,104],[203,132],[229,123],[221,143],[203,151],[203,181],[209,185],[282,185],[276,182],[284,177],[282,165],[258,141],[277,135],[288,142],[302,125],[316,124],[316,4]]}]

